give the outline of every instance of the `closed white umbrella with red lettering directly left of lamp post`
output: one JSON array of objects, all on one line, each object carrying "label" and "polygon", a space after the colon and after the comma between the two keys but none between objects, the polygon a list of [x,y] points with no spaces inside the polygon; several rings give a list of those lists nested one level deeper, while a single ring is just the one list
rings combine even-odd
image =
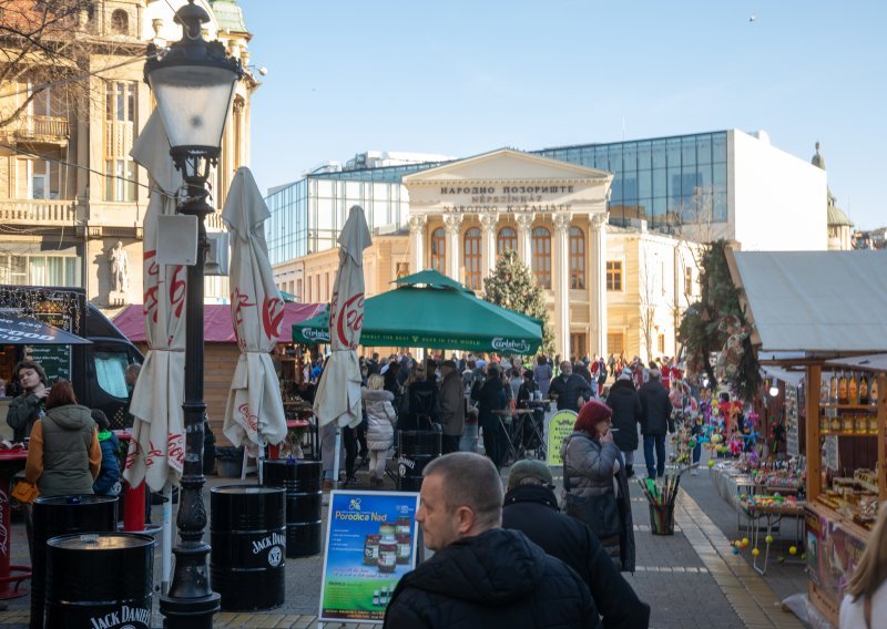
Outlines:
[{"label": "closed white umbrella with red lettering directly left of lamp post", "polygon": [[124,478],[142,480],[159,492],[166,481],[179,483],[184,463],[185,293],[186,269],[156,260],[157,217],[176,213],[182,176],[170,156],[166,130],[151,114],[132,149],[149,174],[151,197],[144,220],[143,279],[145,337],[149,351],[135,382],[130,413],[135,417]]}]

